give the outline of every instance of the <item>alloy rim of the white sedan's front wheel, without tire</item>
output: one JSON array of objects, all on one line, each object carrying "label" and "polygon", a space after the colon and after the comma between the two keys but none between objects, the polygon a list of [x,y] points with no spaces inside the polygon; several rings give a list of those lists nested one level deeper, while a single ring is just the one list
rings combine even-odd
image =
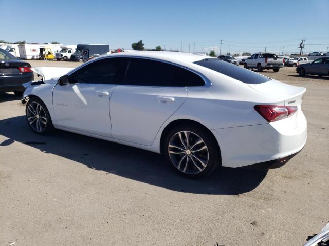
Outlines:
[{"label": "alloy rim of the white sedan's front wheel, without tire", "polygon": [[27,120],[36,132],[42,132],[47,126],[46,112],[41,104],[32,101],[27,107]]}]

